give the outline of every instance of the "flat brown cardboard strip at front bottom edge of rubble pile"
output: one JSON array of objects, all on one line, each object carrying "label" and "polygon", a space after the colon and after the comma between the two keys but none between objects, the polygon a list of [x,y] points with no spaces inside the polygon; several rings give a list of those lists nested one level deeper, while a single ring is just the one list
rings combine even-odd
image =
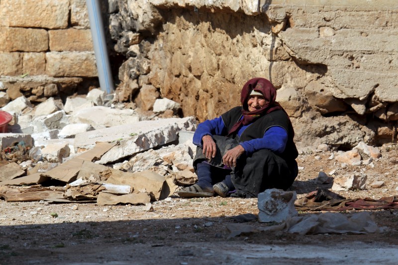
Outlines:
[{"label": "flat brown cardboard strip at front bottom edge of rubble pile", "polygon": [[98,205],[116,205],[122,204],[144,204],[151,201],[151,197],[146,192],[130,193],[124,195],[114,195],[111,193],[100,192],[97,197]]}]

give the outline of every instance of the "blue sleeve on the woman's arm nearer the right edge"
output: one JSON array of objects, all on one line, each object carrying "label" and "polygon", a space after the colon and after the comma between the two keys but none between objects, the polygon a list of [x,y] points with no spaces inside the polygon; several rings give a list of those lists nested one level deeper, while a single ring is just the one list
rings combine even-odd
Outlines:
[{"label": "blue sleeve on the woman's arm nearer the right edge", "polygon": [[280,126],[270,127],[263,138],[253,139],[240,143],[248,155],[261,149],[269,149],[277,154],[285,150],[288,142],[287,131]]}]

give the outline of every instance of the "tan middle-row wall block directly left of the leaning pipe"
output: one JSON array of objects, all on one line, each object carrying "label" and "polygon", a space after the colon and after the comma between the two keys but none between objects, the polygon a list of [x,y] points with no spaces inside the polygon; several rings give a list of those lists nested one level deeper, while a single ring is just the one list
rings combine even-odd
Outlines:
[{"label": "tan middle-row wall block directly left of the leaning pipe", "polygon": [[64,52],[93,51],[93,39],[90,29],[58,29],[48,31],[50,51]]}]

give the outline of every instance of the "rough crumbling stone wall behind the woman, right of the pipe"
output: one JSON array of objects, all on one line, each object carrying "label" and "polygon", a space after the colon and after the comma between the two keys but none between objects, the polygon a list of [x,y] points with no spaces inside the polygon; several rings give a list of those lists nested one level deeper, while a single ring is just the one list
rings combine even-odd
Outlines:
[{"label": "rough crumbling stone wall behind the woman, right of the pipe", "polygon": [[397,1],[115,2],[119,90],[151,85],[202,121],[264,77],[302,145],[397,141]]}]

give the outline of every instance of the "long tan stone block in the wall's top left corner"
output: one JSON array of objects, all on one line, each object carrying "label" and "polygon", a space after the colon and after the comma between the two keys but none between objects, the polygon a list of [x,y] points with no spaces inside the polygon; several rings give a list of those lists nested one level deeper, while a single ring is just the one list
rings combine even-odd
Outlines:
[{"label": "long tan stone block in the wall's top left corner", "polygon": [[1,26],[66,28],[69,0],[1,0]]}]

